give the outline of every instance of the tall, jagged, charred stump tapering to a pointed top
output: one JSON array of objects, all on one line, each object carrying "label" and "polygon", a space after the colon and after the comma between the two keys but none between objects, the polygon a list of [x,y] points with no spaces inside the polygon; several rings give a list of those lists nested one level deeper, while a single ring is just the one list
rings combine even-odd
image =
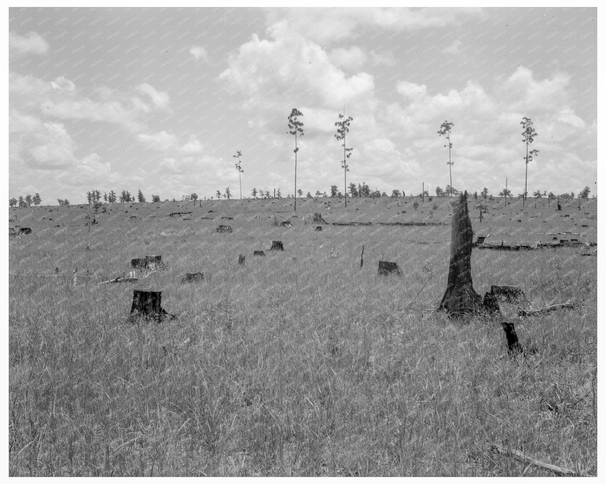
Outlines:
[{"label": "tall, jagged, charred stump tapering to a pointed top", "polygon": [[484,307],[482,298],[473,289],[471,280],[472,246],[473,232],[467,211],[467,191],[465,191],[459,197],[459,203],[453,208],[448,286],[438,308],[446,310],[451,316],[479,312]]}]

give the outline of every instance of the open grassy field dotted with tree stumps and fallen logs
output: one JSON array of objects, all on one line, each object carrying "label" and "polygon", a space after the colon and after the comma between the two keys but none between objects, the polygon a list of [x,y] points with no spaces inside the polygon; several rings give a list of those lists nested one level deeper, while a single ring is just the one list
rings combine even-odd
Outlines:
[{"label": "open grassy field dotted with tree stumps and fallen logs", "polygon": [[[596,475],[595,391],[549,410],[596,372],[589,249],[473,250],[481,295],[516,284],[524,307],[584,301],[524,319],[502,304],[536,349],[510,359],[499,319],[431,311],[448,275],[448,198],[356,198],[330,210],[326,200],[298,201],[293,227],[274,224],[290,219],[288,199],[114,204],[90,231],[88,206],[11,209],[12,224],[33,232],[10,240],[10,475],[552,475],[491,444]],[[488,201],[480,221],[471,200],[471,223],[488,241],[565,231],[596,241],[596,201],[580,211],[578,200],[561,203],[557,212],[547,200]],[[175,211],[193,213],[165,217]],[[328,222],[444,224],[316,232],[314,212]],[[219,224],[233,233],[214,233]],[[268,252],[272,240],[284,252]],[[168,269],[98,284],[145,255],[162,255]],[[379,260],[402,275],[379,276]],[[204,281],[182,284],[185,272]],[[130,322],[133,289],[162,290],[178,318]]]}]

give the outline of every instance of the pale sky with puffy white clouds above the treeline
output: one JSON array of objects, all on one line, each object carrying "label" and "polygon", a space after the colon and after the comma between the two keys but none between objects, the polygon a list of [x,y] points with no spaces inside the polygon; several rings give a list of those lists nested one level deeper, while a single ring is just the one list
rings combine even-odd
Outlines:
[{"label": "pale sky with puffy white clouds above the treeline", "polygon": [[597,10],[10,8],[9,198],[452,185],[597,194]]}]

